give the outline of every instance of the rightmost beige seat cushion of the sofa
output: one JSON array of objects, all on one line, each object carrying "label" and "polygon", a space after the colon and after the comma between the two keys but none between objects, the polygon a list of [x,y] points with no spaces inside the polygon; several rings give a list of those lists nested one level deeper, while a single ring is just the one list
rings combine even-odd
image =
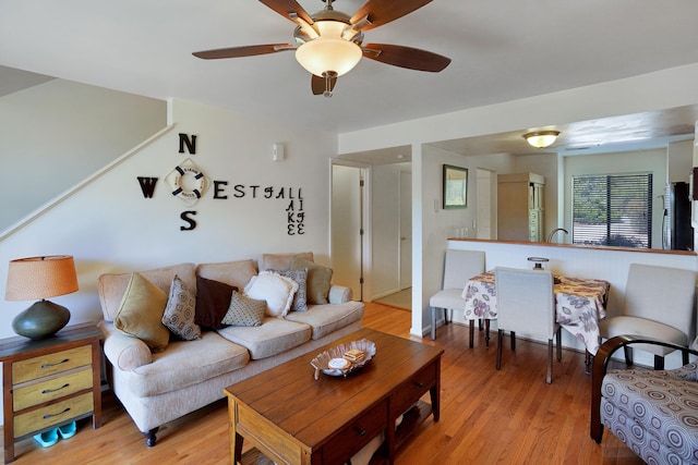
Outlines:
[{"label": "rightmost beige seat cushion of the sofa", "polygon": [[333,331],[359,321],[363,318],[363,304],[347,302],[346,304],[311,305],[308,311],[291,311],[286,316],[288,321],[308,325],[313,329],[312,339],[317,340]]}]

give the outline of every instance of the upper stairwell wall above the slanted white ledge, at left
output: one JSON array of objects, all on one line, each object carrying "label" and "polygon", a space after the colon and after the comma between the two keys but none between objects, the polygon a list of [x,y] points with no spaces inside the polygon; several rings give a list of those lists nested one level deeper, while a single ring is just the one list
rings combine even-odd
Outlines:
[{"label": "upper stairwell wall above the slanted white ledge, at left", "polygon": [[[163,100],[63,79],[0,98],[0,231],[165,127]],[[8,174],[8,172],[5,172]]]}]

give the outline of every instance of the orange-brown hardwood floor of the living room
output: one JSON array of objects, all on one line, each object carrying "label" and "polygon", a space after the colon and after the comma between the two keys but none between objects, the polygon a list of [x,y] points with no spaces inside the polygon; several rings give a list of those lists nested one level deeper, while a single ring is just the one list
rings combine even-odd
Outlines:
[{"label": "orange-brown hardwood floor of the living room", "polygon": [[[445,350],[442,360],[441,420],[429,419],[402,449],[397,465],[412,464],[642,464],[613,435],[602,444],[589,437],[591,379],[583,354],[563,351],[553,383],[545,383],[546,346],[517,340],[504,347],[496,371],[496,338],[490,348],[482,333],[468,348],[468,328],[438,329],[436,341],[409,335],[410,313],[366,304],[364,326]],[[377,354],[376,356],[380,356]],[[228,417],[220,401],[165,425],[155,448],[110,393],[104,395],[103,427],[79,423],[77,433],[43,449],[33,439],[17,442],[22,464],[227,464]]]}]

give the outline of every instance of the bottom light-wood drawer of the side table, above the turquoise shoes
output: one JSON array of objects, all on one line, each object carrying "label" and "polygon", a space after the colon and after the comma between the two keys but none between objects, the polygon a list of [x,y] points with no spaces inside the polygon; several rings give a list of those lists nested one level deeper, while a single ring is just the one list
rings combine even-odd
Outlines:
[{"label": "bottom light-wood drawer of the side table, above the turquoise shoes", "polygon": [[[52,405],[47,405],[14,418],[14,437],[20,438],[29,432],[38,431],[53,425],[67,423],[70,418],[77,417],[94,411],[92,392],[67,399]],[[8,425],[5,425],[8,428]],[[7,432],[7,429],[5,429]]]}]

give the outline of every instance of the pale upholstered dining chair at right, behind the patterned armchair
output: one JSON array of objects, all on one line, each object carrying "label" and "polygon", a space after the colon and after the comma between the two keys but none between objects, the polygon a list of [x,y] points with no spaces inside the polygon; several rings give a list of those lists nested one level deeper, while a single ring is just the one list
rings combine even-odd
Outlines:
[{"label": "pale upholstered dining chair at right, behind the patterned armchair", "polygon": [[[603,339],[622,334],[643,335],[687,347],[696,328],[696,272],[653,265],[630,264],[622,315],[600,321]],[[663,369],[664,357],[674,352],[662,345],[639,344],[634,348],[654,355],[654,369]],[[626,364],[633,352],[624,346]],[[688,363],[683,353],[684,365]]]}]

